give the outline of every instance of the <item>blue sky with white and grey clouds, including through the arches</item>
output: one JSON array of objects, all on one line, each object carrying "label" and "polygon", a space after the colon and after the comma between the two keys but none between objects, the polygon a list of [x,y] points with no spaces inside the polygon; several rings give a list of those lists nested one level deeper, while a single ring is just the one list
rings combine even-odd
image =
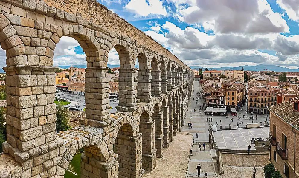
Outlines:
[{"label": "blue sky with white and grey clouds, including through the arches", "polygon": [[[98,1],[188,66],[299,67],[299,1]],[[62,38],[54,51],[54,66],[86,64],[78,45],[72,38]],[[109,53],[108,64],[119,64],[116,51]]]}]

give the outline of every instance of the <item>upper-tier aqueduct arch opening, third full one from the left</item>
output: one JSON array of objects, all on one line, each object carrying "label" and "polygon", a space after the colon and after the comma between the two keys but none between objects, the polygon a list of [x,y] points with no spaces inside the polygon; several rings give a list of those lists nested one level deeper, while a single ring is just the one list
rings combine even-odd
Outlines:
[{"label": "upper-tier aqueduct arch opening, third full one from the left", "polygon": [[152,98],[152,75],[150,71],[150,63],[146,57],[144,49],[138,49],[139,69],[137,75],[137,99],[140,102],[150,102]]}]

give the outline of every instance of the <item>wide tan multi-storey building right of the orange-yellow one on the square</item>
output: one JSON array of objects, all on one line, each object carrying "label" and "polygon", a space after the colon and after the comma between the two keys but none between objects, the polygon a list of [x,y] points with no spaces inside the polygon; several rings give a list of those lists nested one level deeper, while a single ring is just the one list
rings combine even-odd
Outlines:
[{"label": "wide tan multi-storey building right of the orange-yellow one on the square", "polygon": [[254,86],[248,89],[248,111],[257,114],[268,114],[267,106],[276,104],[279,88]]}]

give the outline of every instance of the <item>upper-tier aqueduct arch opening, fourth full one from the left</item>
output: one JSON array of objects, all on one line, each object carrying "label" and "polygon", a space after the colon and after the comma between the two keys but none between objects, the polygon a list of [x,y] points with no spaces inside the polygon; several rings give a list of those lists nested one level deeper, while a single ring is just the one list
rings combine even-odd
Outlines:
[{"label": "upper-tier aqueduct arch opening, fourth full one from the left", "polygon": [[161,94],[161,70],[159,70],[158,59],[153,57],[151,60],[151,75],[152,75],[152,97],[160,97]]}]

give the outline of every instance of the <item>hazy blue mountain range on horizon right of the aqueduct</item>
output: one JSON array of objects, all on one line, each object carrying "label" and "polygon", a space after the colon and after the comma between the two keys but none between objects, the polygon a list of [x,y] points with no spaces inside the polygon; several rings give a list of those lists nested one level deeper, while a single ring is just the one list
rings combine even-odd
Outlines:
[{"label": "hazy blue mountain range on horizon right of the aqueduct", "polygon": [[[298,69],[289,69],[286,67],[280,67],[275,65],[256,65],[256,66],[239,66],[239,67],[219,67],[219,68],[209,68],[209,70],[241,70],[241,68],[244,68],[244,70],[250,70],[250,71],[264,71],[265,69],[268,69],[270,71],[275,72],[299,72]],[[200,66],[190,66],[191,69],[199,70],[201,68]],[[204,67],[205,70],[205,67]]]}]

